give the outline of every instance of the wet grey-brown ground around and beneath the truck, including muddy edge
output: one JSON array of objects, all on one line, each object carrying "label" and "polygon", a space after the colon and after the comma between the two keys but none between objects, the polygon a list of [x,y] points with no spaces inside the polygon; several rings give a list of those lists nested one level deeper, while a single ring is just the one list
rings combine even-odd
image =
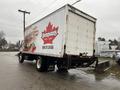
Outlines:
[{"label": "wet grey-brown ground around and beneath the truck, including muddy edge", "polygon": [[18,63],[15,52],[0,52],[0,90],[120,90],[120,66],[105,73],[71,69],[68,73],[35,69],[35,62]]}]

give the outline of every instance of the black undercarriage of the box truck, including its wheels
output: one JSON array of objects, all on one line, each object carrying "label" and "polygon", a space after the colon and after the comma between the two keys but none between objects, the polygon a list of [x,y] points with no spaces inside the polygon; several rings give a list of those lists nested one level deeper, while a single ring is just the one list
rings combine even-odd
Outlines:
[{"label": "black undercarriage of the box truck, including its wheels", "polygon": [[39,72],[54,71],[55,65],[59,71],[67,71],[71,68],[78,67],[89,67],[95,63],[95,67],[98,65],[98,58],[95,56],[75,56],[75,55],[64,55],[63,58],[56,58],[43,55],[35,55],[20,52],[18,54],[19,63],[23,63],[24,60],[36,61],[36,69]]}]

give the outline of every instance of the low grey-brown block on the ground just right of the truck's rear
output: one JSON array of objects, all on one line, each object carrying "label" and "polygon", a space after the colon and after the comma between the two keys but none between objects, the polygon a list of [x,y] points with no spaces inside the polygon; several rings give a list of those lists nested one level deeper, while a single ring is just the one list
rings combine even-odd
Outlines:
[{"label": "low grey-brown block on the ground just right of the truck's rear", "polygon": [[98,61],[98,64],[95,67],[95,71],[101,73],[101,72],[106,71],[109,68],[110,68],[110,61],[109,60]]}]

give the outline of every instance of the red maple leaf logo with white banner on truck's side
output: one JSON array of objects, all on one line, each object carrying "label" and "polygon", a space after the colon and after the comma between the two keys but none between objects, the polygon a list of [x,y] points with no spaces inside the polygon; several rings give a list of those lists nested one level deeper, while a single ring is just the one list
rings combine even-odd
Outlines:
[{"label": "red maple leaf logo with white banner on truck's side", "polygon": [[42,40],[44,41],[44,44],[52,44],[55,37],[58,35],[58,26],[54,26],[49,22],[48,26],[42,32]]}]

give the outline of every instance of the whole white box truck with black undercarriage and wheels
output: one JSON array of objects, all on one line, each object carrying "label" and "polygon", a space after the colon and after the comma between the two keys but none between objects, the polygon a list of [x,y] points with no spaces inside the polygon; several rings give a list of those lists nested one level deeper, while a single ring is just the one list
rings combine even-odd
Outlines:
[{"label": "whole white box truck with black undercarriage and wheels", "polygon": [[96,18],[67,4],[26,27],[19,62],[36,60],[38,71],[96,63]]}]

